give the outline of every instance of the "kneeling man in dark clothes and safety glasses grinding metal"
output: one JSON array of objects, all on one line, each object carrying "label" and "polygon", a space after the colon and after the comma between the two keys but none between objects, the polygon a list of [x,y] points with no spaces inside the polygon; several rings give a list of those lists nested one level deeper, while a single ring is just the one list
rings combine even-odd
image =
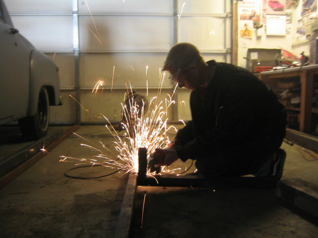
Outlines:
[{"label": "kneeling man in dark clothes and safety glasses grinding metal", "polygon": [[279,180],[285,162],[280,145],[286,111],[274,93],[241,67],[204,62],[190,43],[171,48],[163,69],[179,87],[191,89],[192,120],[177,132],[161,165],[196,160],[194,174],[233,177],[253,174]]}]

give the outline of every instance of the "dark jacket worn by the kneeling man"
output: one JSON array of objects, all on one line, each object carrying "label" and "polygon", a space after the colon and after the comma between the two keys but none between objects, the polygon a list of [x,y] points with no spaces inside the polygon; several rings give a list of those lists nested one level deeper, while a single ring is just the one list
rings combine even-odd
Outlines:
[{"label": "dark jacket worn by the kneeling man", "polygon": [[284,106],[264,83],[241,67],[207,63],[216,70],[204,100],[197,90],[191,92],[192,121],[176,135],[176,151],[183,161],[273,136],[277,129],[285,133]]}]

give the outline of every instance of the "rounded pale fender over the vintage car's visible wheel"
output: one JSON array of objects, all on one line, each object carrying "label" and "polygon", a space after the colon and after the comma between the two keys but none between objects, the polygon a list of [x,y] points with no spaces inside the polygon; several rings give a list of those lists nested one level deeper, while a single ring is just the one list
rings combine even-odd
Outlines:
[{"label": "rounded pale fender over the vintage car's visible wheel", "polygon": [[34,116],[36,114],[38,96],[42,87],[48,90],[50,105],[60,105],[58,70],[56,64],[48,56],[38,50],[31,51],[28,116]]}]

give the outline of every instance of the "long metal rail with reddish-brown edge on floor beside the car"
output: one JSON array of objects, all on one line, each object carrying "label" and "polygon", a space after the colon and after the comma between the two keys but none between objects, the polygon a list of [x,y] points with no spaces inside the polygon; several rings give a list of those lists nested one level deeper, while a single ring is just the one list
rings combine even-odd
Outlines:
[{"label": "long metal rail with reddish-brown edge on floor beside the car", "polygon": [[[19,150],[15,155],[4,159],[1,164],[1,171],[3,171],[3,174],[0,174],[0,189],[45,155],[45,153],[40,150],[41,148],[43,148],[44,141],[45,143],[51,142],[45,147],[45,150],[47,152],[50,152],[65,139],[67,139],[70,135],[72,135],[73,132],[75,132],[77,129],[79,129],[79,125],[73,125],[71,128],[65,130],[64,133],[63,130],[60,130],[52,135],[45,136],[44,138],[34,142],[30,146]],[[8,164],[12,162],[16,167],[13,168],[11,166],[10,169],[7,169],[9,166]]]}]

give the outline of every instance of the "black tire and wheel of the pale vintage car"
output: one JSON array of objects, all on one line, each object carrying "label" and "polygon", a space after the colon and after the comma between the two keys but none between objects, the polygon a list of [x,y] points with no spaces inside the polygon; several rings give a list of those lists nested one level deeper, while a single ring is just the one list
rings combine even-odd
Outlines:
[{"label": "black tire and wheel of the pale vintage car", "polygon": [[38,140],[45,136],[49,128],[49,117],[49,95],[45,88],[41,88],[36,114],[18,120],[23,136],[28,140]]}]

